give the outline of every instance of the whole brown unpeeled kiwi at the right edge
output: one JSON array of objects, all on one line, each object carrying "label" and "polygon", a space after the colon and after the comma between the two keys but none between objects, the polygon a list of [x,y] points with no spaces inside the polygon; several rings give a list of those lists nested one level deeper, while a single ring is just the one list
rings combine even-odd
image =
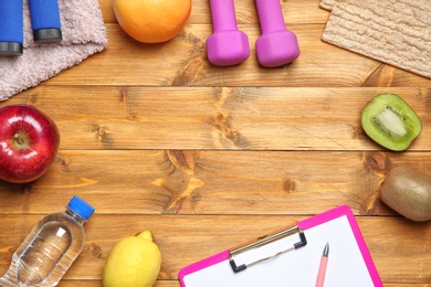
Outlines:
[{"label": "whole brown unpeeled kiwi at the right edge", "polygon": [[431,220],[431,174],[409,167],[395,167],[385,178],[380,199],[412,221]]}]

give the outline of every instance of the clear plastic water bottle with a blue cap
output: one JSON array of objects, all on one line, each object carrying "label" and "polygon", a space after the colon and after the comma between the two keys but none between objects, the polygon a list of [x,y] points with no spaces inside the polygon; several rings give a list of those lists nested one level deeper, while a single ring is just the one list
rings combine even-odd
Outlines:
[{"label": "clear plastic water bottle with a blue cap", "polygon": [[44,216],[15,251],[0,286],[56,286],[84,247],[94,208],[74,196],[64,212]]}]

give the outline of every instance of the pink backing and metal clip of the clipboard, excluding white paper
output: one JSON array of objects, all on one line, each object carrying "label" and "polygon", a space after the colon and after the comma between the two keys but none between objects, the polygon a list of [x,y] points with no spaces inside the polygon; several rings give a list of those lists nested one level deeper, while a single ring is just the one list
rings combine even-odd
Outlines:
[{"label": "pink backing and metal clip of the clipboard, excluding white paper", "polygon": [[[242,252],[242,251],[248,249],[248,248],[253,248],[253,247],[256,247],[256,246],[259,247],[259,246],[265,244],[265,241],[270,242],[272,240],[276,240],[274,237],[277,237],[277,236],[290,236],[292,234],[299,234],[299,241],[296,243],[297,244],[296,247],[303,247],[303,246],[305,246],[307,244],[303,231],[307,231],[309,228],[313,228],[315,226],[318,226],[320,224],[324,224],[326,222],[336,220],[336,219],[341,217],[341,216],[346,216],[347,220],[348,220],[348,224],[349,224],[349,226],[351,228],[351,232],[353,232],[353,234],[355,236],[356,244],[357,244],[357,246],[358,246],[358,248],[360,251],[360,254],[362,256],[362,259],[364,259],[365,265],[367,267],[367,270],[369,273],[370,279],[374,283],[374,286],[375,287],[383,286],[382,283],[381,283],[380,276],[379,276],[379,274],[377,272],[377,268],[376,268],[376,266],[375,266],[375,264],[372,262],[371,255],[370,255],[370,253],[369,253],[369,251],[367,248],[367,245],[365,243],[362,234],[361,234],[361,232],[359,230],[359,226],[358,226],[358,224],[356,222],[355,215],[351,212],[350,208],[347,206],[347,205],[341,205],[341,206],[332,209],[332,210],[326,211],[324,213],[317,214],[317,215],[315,215],[313,217],[299,221],[299,222],[297,222],[296,226],[294,226],[294,227],[288,227],[288,228],[282,230],[281,232],[276,232],[276,233],[272,233],[272,234],[259,237],[257,240],[253,241],[251,244],[250,243],[249,244],[244,244],[244,245],[241,245],[240,247],[221,252],[221,253],[216,254],[216,255],[213,255],[211,257],[208,257],[208,258],[206,258],[203,261],[200,261],[200,262],[197,262],[197,263],[191,264],[189,266],[186,266],[186,267],[183,267],[179,272],[180,284],[181,284],[182,287],[187,287],[187,285],[185,284],[185,277],[187,275],[196,273],[196,272],[199,272],[201,269],[204,269],[207,267],[210,267],[212,265],[216,265],[216,264],[219,264],[219,263],[222,263],[222,262],[225,262],[225,261],[230,262],[230,265],[232,266],[233,272],[235,272],[235,273],[236,272],[241,272],[246,266],[233,266],[232,265],[232,257],[235,255],[235,253],[238,251]],[[294,244],[293,248],[292,247],[287,247],[285,251],[280,252],[280,254],[284,253],[284,252],[287,252],[287,251],[291,251],[291,249],[295,249],[295,244]],[[277,256],[280,254],[275,254],[274,256],[262,258],[261,261],[257,261],[257,262],[252,262],[248,266],[250,266],[252,264],[255,264],[255,263],[260,263],[262,261],[271,259],[272,257],[275,257],[275,256]],[[238,270],[235,270],[235,268]]]}]

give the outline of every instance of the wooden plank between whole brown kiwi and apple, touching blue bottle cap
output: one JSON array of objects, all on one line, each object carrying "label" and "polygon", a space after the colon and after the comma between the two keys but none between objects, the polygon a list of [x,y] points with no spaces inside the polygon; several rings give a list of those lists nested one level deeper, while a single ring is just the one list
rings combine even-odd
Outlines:
[{"label": "wooden plank between whole brown kiwi and apple, touching blue bottle cap", "polygon": [[397,164],[431,174],[431,152],[64,150],[38,181],[0,182],[0,213],[50,213],[78,194],[99,214],[315,214],[348,204],[388,215],[377,196]]}]

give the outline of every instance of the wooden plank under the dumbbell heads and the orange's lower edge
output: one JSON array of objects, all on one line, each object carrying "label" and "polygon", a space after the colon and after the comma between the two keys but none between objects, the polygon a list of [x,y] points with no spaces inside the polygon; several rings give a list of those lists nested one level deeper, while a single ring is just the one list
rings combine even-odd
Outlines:
[{"label": "wooden plank under the dumbbell heads and the orange's lower edge", "polygon": [[[240,26],[249,35],[251,56],[241,65],[217,67],[207,60],[210,25],[188,25],[162,44],[139,43],[117,24],[106,24],[108,47],[43,84],[146,86],[430,86],[424,78],[320,41],[324,24],[292,25],[301,56],[290,65],[264,68],[254,42],[259,26]],[[355,73],[353,73],[355,71]]]}]

